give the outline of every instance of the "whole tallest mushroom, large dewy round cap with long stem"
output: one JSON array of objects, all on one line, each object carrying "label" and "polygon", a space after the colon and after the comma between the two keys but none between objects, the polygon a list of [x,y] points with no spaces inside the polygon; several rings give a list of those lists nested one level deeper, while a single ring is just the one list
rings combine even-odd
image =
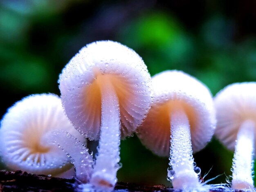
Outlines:
[{"label": "whole tallest mushroom, large dewy round cap with long stem", "polygon": [[146,65],[135,51],[118,42],[92,42],[65,66],[59,88],[74,127],[99,140],[90,183],[112,190],[117,182],[120,134],[132,136],[152,102]]}]

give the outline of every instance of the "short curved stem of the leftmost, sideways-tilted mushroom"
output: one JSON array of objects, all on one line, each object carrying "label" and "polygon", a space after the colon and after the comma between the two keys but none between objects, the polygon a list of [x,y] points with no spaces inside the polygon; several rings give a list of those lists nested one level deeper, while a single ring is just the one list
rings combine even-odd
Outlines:
[{"label": "short curved stem of the leftmost, sideways-tilted mushroom", "polygon": [[88,183],[92,174],[93,159],[85,145],[63,130],[50,132],[46,139],[47,143],[51,142],[62,148],[76,168],[76,178],[82,183]]}]

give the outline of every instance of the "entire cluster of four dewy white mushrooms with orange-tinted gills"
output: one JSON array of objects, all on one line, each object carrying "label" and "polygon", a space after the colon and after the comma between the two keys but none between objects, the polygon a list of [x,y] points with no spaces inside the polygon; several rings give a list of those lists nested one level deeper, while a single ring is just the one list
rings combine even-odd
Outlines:
[{"label": "entire cluster of four dewy white mushrooms with orange-tinted gills", "polygon": [[[10,169],[59,176],[74,164],[78,190],[111,191],[120,168],[120,138],[137,132],[153,153],[170,156],[167,178],[173,188],[208,191],[193,152],[216,131],[229,149],[237,139],[232,188],[254,187],[256,83],[230,85],[213,101],[205,85],[182,71],[150,78],[135,51],[112,41],[83,47],[58,82],[61,98],[28,96],[2,118],[0,154]],[[99,140],[96,160],[85,138]]]}]

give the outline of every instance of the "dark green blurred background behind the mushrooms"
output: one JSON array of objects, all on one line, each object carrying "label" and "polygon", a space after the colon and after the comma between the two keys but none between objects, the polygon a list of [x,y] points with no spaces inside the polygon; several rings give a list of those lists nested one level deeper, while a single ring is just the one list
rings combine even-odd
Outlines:
[{"label": "dark green blurred background behind the mushrooms", "polygon": [[[58,75],[86,44],[115,40],[134,49],[151,75],[183,70],[213,95],[256,81],[255,0],[1,0],[0,116],[29,94],[58,90]],[[194,155],[205,180],[225,183],[233,152],[215,138]],[[168,158],[136,136],[121,141],[119,181],[166,184]],[[225,174],[223,174],[225,173]]]}]

